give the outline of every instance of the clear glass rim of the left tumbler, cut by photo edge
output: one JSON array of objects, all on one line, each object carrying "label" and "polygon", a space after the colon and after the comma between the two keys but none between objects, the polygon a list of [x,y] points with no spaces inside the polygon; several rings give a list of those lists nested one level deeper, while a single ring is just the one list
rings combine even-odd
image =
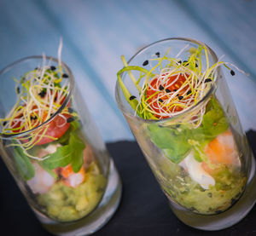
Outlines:
[{"label": "clear glass rim of the left tumbler, cut by photo edge", "polygon": [[[53,56],[47,56],[47,55],[31,55],[31,56],[26,56],[24,58],[21,58],[19,60],[15,60],[14,62],[12,62],[11,64],[9,64],[8,66],[5,66],[1,71],[0,71],[0,77],[3,75],[3,73],[5,72],[9,72],[9,70],[11,70],[12,67],[22,63],[22,62],[25,62],[26,60],[34,60],[34,59],[46,59],[46,60],[52,60],[54,62],[57,62],[59,63],[59,60]],[[70,88],[67,92],[67,96],[65,98],[65,100],[63,101],[63,103],[61,104],[61,106],[59,107],[59,109],[53,113],[53,115],[48,118],[46,121],[44,121],[44,123],[42,124],[39,124],[38,126],[34,127],[33,129],[31,130],[26,130],[26,131],[23,131],[23,132],[20,132],[20,133],[17,133],[17,134],[10,134],[10,135],[6,135],[6,134],[3,134],[0,132],[0,137],[2,139],[5,139],[5,140],[9,140],[11,138],[15,138],[15,137],[20,137],[20,136],[24,136],[24,135],[28,135],[30,133],[32,133],[33,131],[35,130],[39,130],[40,128],[42,128],[44,125],[46,124],[49,124],[59,113],[61,113],[61,111],[67,106],[68,102],[70,101],[70,98],[71,96],[73,95],[73,89],[74,89],[74,78],[73,78],[73,73],[71,71],[71,69],[67,66],[66,63],[64,63],[62,60],[61,60],[61,66],[64,67],[65,71],[67,72],[68,74],[68,79],[70,81]],[[0,78],[0,81],[1,81],[1,78]]]}]

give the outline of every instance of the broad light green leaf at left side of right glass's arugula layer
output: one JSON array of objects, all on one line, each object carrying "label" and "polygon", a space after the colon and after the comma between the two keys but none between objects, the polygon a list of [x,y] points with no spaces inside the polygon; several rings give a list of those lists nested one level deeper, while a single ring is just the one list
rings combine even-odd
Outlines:
[{"label": "broad light green leaf at left side of right glass's arugula layer", "polygon": [[189,153],[191,146],[188,143],[189,130],[170,127],[160,127],[157,124],[148,125],[149,136],[154,144],[162,149],[163,153],[173,163],[179,163]]}]

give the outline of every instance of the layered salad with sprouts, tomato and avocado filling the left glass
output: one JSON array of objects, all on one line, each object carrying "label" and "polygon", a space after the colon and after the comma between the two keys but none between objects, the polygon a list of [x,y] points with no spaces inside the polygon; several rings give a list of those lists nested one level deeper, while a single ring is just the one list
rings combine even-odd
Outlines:
[{"label": "layered salad with sprouts, tomato and avocado filling the left glass", "polygon": [[10,137],[5,147],[30,204],[57,222],[88,215],[107,184],[70,95],[69,76],[59,61],[10,78],[17,99],[0,118],[2,135]]}]

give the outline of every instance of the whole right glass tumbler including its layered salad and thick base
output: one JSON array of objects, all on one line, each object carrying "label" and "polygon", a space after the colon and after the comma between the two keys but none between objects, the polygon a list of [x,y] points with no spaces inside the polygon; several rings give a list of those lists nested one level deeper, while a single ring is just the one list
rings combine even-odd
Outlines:
[{"label": "whole right glass tumbler including its layered salad and thick base", "polygon": [[254,159],[220,64],[204,43],[161,40],[124,62],[115,90],[172,211],[204,230],[239,222],[256,199]]}]

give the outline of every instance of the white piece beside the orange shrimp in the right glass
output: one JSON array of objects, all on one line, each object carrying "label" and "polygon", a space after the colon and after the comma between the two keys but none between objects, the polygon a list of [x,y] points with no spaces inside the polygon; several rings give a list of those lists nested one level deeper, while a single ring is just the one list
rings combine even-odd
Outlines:
[{"label": "white piece beside the orange shrimp in the right glass", "polygon": [[190,152],[189,155],[183,159],[180,166],[189,173],[193,181],[198,182],[204,189],[209,189],[210,185],[215,186],[215,180],[202,169],[201,163],[195,160],[193,152]]}]

